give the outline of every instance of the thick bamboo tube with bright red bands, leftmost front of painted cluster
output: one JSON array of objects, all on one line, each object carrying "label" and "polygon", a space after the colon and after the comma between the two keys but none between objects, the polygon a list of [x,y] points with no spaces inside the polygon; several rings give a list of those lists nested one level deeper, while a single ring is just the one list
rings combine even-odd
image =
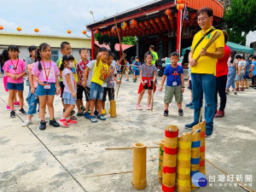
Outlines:
[{"label": "thick bamboo tube with bright red bands, leftmost front of painted cluster", "polygon": [[170,125],[166,127],[162,178],[162,190],[164,192],[174,192],[176,189],[177,136],[177,126]]}]

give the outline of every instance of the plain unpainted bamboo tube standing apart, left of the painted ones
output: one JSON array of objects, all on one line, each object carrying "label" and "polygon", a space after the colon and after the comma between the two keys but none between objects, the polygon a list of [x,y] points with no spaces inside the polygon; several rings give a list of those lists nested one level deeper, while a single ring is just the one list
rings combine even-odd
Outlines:
[{"label": "plain unpainted bamboo tube standing apart, left of the painted ones", "polygon": [[134,189],[145,189],[147,186],[146,176],[147,145],[144,143],[133,144],[133,172],[132,182]]}]

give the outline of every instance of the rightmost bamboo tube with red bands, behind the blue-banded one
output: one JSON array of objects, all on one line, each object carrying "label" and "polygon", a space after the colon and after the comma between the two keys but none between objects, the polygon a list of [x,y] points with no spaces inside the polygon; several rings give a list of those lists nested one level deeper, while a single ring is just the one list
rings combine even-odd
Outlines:
[{"label": "rightmost bamboo tube with red bands, behind the blue-banded one", "polygon": [[[204,159],[206,157],[206,120],[201,122],[199,125],[193,126],[192,131],[196,131],[199,128],[201,129],[201,147],[200,147],[199,172],[206,175],[206,166],[205,166],[206,160]],[[203,157],[203,158],[201,158],[201,157]]]}]

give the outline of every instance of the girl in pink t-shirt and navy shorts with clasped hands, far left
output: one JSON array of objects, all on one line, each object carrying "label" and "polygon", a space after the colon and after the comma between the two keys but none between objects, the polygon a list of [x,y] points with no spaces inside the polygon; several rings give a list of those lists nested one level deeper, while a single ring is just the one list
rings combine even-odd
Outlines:
[{"label": "girl in pink t-shirt and navy shorts with clasped hands, far left", "polygon": [[10,117],[15,118],[15,108],[14,108],[14,98],[15,90],[18,91],[18,96],[20,100],[20,113],[26,114],[23,109],[23,90],[24,90],[24,79],[23,76],[26,74],[26,64],[24,61],[19,60],[18,55],[20,53],[19,47],[17,45],[9,45],[8,53],[10,60],[6,61],[3,66],[3,71],[5,75],[8,76],[6,89],[9,90],[9,107],[10,107]]}]

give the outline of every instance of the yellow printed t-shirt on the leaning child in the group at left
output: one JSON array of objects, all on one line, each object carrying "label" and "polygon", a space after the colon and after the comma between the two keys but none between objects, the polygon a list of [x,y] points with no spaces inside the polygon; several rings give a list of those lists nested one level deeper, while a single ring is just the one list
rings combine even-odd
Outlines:
[{"label": "yellow printed t-shirt on the leaning child in the group at left", "polygon": [[102,85],[108,77],[108,64],[102,63],[102,60],[98,62],[98,66],[94,67],[94,72],[91,78],[91,82]]}]

